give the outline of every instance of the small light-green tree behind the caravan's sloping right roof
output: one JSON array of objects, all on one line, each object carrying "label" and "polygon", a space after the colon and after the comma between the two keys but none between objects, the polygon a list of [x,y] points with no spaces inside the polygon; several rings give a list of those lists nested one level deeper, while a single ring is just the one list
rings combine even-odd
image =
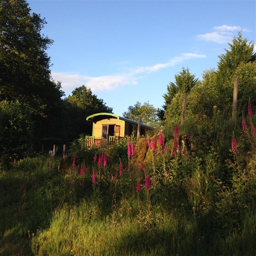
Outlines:
[{"label": "small light-green tree behind the caravan's sloping right roof", "polygon": [[139,117],[142,118],[142,123],[156,127],[158,125],[157,117],[158,109],[149,104],[148,101],[143,105],[137,101],[135,105],[129,106],[128,111],[123,113],[123,116],[134,121],[138,121]]}]

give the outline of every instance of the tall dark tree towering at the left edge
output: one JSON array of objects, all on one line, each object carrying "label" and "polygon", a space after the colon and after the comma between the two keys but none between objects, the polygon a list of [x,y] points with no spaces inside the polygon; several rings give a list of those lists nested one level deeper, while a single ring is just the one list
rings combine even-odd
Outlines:
[{"label": "tall dark tree towering at the left edge", "polygon": [[64,95],[50,76],[46,49],[53,41],[41,35],[45,24],[26,1],[0,0],[0,101],[19,100],[30,109],[38,138],[58,133],[48,124],[56,120]]}]

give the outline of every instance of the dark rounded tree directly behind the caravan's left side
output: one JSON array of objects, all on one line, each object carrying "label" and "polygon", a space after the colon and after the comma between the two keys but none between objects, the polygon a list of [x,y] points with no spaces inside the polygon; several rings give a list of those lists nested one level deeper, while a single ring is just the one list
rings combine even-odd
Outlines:
[{"label": "dark rounded tree directly behind the caravan's left side", "polygon": [[66,118],[69,119],[67,123],[70,139],[78,138],[81,133],[91,133],[91,123],[86,121],[87,116],[99,112],[112,113],[113,110],[84,85],[75,88],[64,102],[67,108]]}]

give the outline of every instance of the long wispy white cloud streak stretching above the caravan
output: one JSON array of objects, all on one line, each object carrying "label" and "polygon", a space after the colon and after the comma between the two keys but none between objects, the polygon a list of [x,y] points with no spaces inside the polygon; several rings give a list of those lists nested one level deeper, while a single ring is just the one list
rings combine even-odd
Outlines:
[{"label": "long wispy white cloud streak stretching above the caravan", "polygon": [[132,68],[123,74],[91,77],[70,72],[52,72],[52,77],[56,81],[61,81],[63,90],[67,92],[72,91],[75,87],[81,86],[82,84],[91,88],[91,90],[95,92],[113,90],[122,85],[137,84],[137,80],[139,79],[138,74],[157,72],[162,68],[174,66],[184,60],[204,57],[206,57],[204,54],[182,53],[180,56],[173,57],[166,63]]}]

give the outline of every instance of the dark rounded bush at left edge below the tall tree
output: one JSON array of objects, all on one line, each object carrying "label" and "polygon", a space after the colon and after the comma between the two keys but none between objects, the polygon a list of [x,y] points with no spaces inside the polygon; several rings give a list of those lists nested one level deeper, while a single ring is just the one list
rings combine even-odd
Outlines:
[{"label": "dark rounded bush at left edge below the tall tree", "polygon": [[0,102],[0,163],[21,157],[31,146],[33,121],[31,111],[19,101]]}]

